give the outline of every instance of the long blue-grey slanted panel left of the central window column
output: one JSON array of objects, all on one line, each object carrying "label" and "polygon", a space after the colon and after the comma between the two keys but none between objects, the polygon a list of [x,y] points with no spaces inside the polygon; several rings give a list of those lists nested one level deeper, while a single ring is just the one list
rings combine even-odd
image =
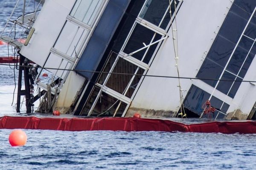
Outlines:
[{"label": "long blue-grey slanted panel left of the central window column", "polygon": [[[130,0],[110,0],[108,2],[102,17],[76,65],[76,69],[96,70],[129,2]],[[93,75],[92,72],[79,72],[79,74],[88,79]]]}]

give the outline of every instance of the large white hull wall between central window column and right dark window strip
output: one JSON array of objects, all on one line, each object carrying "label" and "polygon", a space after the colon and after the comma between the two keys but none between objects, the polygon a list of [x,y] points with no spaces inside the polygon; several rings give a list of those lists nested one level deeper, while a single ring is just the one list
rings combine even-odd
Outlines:
[{"label": "large white hull wall between central window column and right dark window strip", "polygon": [[[222,25],[230,0],[184,0],[177,14],[177,34],[181,77],[195,77],[203,63],[204,52],[209,50]],[[156,55],[148,75],[177,76],[175,55],[170,36],[164,41]],[[204,82],[201,82],[205,84]],[[181,80],[181,86],[189,90],[192,81]],[[146,77],[131,104],[131,107],[159,110],[179,108],[179,88],[177,79]],[[213,88],[211,88],[213,90]],[[186,91],[186,92],[187,92]],[[186,94],[185,92],[185,94]],[[209,91],[208,91],[209,92]],[[212,92],[212,91],[211,91]],[[209,92],[209,93],[211,93]],[[185,96],[185,95],[184,95]]]}]

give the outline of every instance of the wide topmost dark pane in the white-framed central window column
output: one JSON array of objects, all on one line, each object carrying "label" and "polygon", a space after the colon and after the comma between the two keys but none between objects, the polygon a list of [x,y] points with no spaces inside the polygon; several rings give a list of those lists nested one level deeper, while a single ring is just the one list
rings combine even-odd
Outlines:
[{"label": "wide topmost dark pane in the white-framed central window column", "polygon": [[148,0],[140,17],[159,26],[169,6],[169,0]]}]

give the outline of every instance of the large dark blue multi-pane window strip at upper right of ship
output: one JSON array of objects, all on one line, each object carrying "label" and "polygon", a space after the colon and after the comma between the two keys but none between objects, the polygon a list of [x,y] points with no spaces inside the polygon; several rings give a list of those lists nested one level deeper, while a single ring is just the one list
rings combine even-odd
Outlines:
[{"label": "large dark blue multi-pane window strip at upper right of ship", "polygon": [[[231,98],[235,97],[236,91],[255,56],[256,15],[253,14],[255,6],[255,0],[235,0],[233,2],[196,76],[202,79],[221,79],[219,83],[217,80],[202,81]],[[216,86],[217,83],[218,86]]]}]

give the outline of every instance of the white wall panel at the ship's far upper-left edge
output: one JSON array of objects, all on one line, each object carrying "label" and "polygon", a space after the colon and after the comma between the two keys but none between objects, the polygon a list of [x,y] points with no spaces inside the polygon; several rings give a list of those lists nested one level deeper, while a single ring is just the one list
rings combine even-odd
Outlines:
[{"label": "white wall panel at the ship's far upper-left edge", "polygon": [[74,3],[75,0],[47,0],[33,26],[35,33],[20,53],[43,66]]}]

